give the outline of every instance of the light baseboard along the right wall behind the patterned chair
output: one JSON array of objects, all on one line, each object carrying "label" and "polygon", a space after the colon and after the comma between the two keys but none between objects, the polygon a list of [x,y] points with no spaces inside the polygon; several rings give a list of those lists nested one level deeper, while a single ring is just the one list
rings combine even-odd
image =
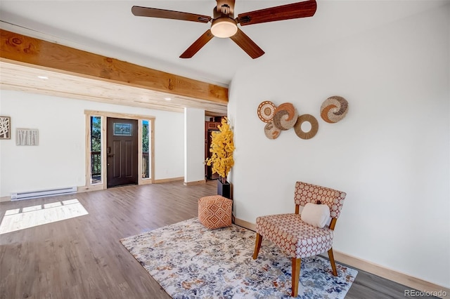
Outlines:
[{"label": "light baseboard along the right wall behind the patterned chair", "polygon": [[[245,227],[248,230],[255,231],[256,225],[252,222],[247,222],[245,220],[241,220],[239,218],[235,218],[235,224],[241,227]],[[347,255],[340,251],[333,250],[334,258],[337,262],[349,265],[351,267],[355,267],[360,270],[364,270],[371,274],[378,275],[379,277],[383,277],[385,279],[389,279],[391,281],[397,282],[397,284],[403,284],[405,286],[409,286],[410,288],[414,288],[418,291],[427,291],[435,294],[446,293],[446,295],[441,296],[440,298],[450,298],[450,288],[444,288],[444,286],[439,286],[437,284],[432,284],[429,281],[425,281],[423,279],[418,279],[416,277],[411,277],[408,274],[404,274],[387,267],[377,265],[375,263],[371,263],[368,260],[362,260],[361,258],[356,258],[352,255]],[[326,255],[324,255],[326,256]],[[436,295],[439,297],[439,295]]]}]

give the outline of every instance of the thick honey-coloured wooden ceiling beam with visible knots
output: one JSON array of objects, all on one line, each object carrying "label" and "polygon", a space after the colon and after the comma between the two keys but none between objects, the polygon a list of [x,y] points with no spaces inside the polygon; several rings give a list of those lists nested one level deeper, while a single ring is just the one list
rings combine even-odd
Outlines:
[{"label": "thick honey-coloured wooden ceiling beam with visible knots", "polygon": [[228,88],[222,86],[134,65],[4,29],[0,29],[0,34],[0,59],[4,62],[199,100],[228,103]]}]

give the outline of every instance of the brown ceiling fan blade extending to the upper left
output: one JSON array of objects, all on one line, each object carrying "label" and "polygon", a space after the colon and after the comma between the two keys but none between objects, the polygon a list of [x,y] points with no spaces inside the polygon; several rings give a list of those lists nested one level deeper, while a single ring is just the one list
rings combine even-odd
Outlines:
[{"label": "brown ceiling fan blade extending to the upper left", "polygon": [[167,11],[159,8],[149,8],[142,6],[131,7],[131,13],[139,17],[163,18],[172,20],[184,20],[192,22],[210,22],[209,15],[196,15],[195,13],[182,13],[180,11]]}]

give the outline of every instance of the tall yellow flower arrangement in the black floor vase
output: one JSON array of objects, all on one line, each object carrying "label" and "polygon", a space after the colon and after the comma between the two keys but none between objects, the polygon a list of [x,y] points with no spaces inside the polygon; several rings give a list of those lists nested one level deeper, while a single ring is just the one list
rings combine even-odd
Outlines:
[{"label": "tall yellow flower arrangement in the black floor vase", "polygon": [[210,152],[211,158],[206,159],[206,164],[212,166],[212,173],[219,174],[219,180],[226,182],[231,167],[234,165],[233,151],[233,131],[231,131],[229,121],[226,117],[221,120],[218,126],[219,131],[212,132],[212,142]]}]

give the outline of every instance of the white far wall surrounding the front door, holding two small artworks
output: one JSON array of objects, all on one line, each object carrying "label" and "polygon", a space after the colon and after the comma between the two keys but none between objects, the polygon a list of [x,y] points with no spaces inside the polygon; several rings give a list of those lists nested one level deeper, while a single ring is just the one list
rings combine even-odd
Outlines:
[{"label": "white far wall surrounding the front door, holding two small artworks", "polygon": [[[184,175],[184,114],[1,91],[0,115],[11,117],[11,140],[0,140],[0,197],[11,192],[82,186],[84,109],[155,117],[155,179]],[[16,128],[39,129],[39,146],[16,146]]]}]

